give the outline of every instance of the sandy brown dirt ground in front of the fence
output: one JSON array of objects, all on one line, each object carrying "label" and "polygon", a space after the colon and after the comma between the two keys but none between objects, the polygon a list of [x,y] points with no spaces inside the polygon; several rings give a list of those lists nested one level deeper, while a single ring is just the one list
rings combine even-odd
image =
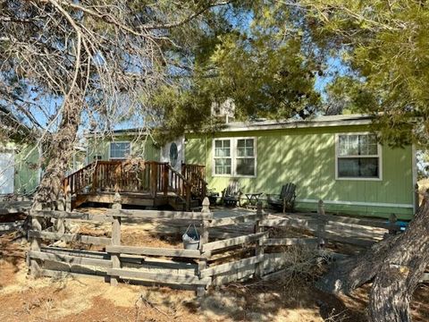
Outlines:
[{"label": "sandy brown dirt ground in front of the fence", "polygon": [[[155,238],[150,230],[124,229],[128,244],[180,247],[174,236]],[[103,226],[81,226],[102,235]],[[98,233],[97,233],[98,232]],[[0,321],[366,321],[370,285],[353,296],[316,291],[308,277],[273,282],[249,281],[211,289],[197,299],[193,291],[120,284],[92,277],[33,279],[25,265],[26,242],[0,236]],[[416,290],[415,321],[429,320],[429,285]]]}]

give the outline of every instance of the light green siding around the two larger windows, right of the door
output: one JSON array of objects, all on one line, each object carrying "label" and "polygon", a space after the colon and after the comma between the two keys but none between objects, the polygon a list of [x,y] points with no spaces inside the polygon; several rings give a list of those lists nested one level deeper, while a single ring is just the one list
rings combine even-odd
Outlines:
[{"label": "light green siding around the two larger windows, right of the door", "polygon": [[[325,208],[333,213],[388,217],[395,213],[402,219],[413,216],[412,148],[382,147],[382,181],[335,180],[335,133],[368,131],[366,126],[339,126],[266,131],[219,132],[211,137],[187,135],[186,162],[206,165],[209,188],[222,191],[231,177],[212,175],[214,138],[256,137],[257,177],[234,178],[242,191],[279,193],[282,184],[297,184],[297,199],[326,200]],[[345,201],[401,204],[409,208],[347,205]],[[302,210],[315,210],[315,202],[297,202]]]}]

